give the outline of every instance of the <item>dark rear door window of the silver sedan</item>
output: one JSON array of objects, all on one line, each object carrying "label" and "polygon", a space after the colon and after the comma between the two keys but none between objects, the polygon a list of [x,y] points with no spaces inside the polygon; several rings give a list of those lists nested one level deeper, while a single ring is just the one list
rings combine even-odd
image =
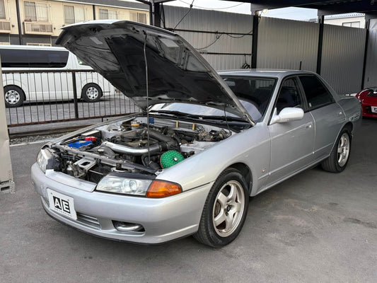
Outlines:
[{"label": "dark rear door window of the silver sedan", "polygon": [[332,94],[316,76],[300,76],[300,81],[308,100],[309,110],[333,103]]}]

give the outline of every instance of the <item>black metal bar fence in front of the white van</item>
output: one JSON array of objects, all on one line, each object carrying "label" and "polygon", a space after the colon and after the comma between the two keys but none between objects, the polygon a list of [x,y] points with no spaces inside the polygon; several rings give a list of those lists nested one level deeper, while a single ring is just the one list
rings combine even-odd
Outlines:
[{"label": "black metal bar fence in front of the white van", "polygon": [[[139,111],[136,105],[95,71],[3,71],[4,93],[18,91],[25,101],[6,108],[8,127],[114,117]],[[16,86],[16,87],[15,87]],[[92,87],[92,88],[90,88]],[[98,102],[86,92],[102,92]],[[21,98],[22,99],[22,98]]]}]

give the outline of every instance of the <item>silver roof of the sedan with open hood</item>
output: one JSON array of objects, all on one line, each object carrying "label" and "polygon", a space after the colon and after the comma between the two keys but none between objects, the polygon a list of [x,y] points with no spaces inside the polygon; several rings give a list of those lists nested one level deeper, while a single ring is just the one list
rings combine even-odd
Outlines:
[{"label": "silver roof of the sedan with open hood", "polygon": [[297,74],[315,74],[311,71],[279,70],[279,69],[235,69],[219,71],[221,76],[261,76],[272,78],[284,78],[285,76]]}]

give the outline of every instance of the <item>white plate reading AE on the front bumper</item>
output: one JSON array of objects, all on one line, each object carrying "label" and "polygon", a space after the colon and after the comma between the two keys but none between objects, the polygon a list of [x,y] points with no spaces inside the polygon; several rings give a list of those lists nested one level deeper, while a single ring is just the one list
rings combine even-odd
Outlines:
[{"label": "white plate reading AE on the front bumper", "polygon": [[71,219],[77,219],[73,197],[63,195],[50,189],[47,189],[47,195],[51,210]]}]

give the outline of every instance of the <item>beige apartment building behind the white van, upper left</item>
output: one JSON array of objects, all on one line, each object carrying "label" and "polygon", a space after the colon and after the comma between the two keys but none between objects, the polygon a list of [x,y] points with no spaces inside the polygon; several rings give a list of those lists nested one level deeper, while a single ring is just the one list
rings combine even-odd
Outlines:
[{"label": "beige apartment building behind the white van, upper left", "polygon": [[52,46],[64,25],[95,19],[149,23],[149,6],[120,0],[0,0],[0,44]]}]

